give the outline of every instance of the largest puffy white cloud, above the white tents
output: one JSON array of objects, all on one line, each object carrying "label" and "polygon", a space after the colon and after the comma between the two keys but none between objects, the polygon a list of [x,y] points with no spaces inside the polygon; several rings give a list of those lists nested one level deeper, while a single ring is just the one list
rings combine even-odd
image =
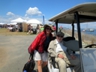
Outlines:
[{"label": "largest puffy white cloud, above the white tents", "polygon": [[41,14],[42,14],[42,12],[39,11],[39,9],[37,7],[34,7],[34,8],[29,7],[29,9],[26,11],[25,16],[27,16],[27,15],[41,15]]}]

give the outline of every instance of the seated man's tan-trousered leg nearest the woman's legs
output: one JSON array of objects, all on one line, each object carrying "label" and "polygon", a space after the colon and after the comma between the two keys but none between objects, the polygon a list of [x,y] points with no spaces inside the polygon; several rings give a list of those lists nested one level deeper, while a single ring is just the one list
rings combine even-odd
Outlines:
[{"label": "seated man's tan-trousered leg nearest the woman's legs", "polygon": [[59,72],[67,72],[67,69],[66,69],[66,62],[64,61],[64,59],[55,58],[55,61],[58,63]]}]

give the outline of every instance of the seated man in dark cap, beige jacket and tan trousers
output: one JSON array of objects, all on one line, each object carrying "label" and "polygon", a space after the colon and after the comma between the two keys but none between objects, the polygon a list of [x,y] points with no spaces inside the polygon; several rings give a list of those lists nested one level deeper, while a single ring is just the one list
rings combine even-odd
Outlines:
[{"label": "seated man in dark cap, beige jacket and tan trousers", "polygon": [[81,72],[79,59],[72,54],[71,50],[64,46],[63,37],[64,33],[57,32],[56,39],[49,44],[49,55],[55,57],[55,61],[59,66],[59,72],[67,72],[67,65],[74,66],[73,72]]}]

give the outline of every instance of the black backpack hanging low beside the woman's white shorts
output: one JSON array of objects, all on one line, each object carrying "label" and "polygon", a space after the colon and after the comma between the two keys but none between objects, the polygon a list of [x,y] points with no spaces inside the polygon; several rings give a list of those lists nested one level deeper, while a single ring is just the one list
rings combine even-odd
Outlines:
[{"label": "black backpack hanging low beside the woman's white shorts", "polygon": [[29,61],[25,63],[23,67],[23,72],[33,72],[35,67],[35,61],[33,60],[33,55],[30,54]]}]

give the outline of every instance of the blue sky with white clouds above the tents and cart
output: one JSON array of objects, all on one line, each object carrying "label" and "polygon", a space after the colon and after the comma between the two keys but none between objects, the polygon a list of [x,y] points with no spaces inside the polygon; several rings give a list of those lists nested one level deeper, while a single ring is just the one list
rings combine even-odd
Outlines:
[{"label": "blue sky with white clouds above the tents and cart", "polygon": [[42,22],[42,15],[48,23],[54,15],[86,2],[96,0],[0,0],[0,23],[10,23],[17,18],[35,18]]}]

